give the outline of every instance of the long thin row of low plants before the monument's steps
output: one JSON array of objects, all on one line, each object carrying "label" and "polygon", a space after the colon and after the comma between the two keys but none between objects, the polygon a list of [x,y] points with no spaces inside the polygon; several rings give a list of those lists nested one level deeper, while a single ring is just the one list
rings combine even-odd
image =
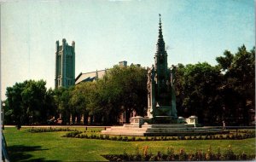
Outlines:
[{"label": "long thin row of low plants before the monument's steps", "polygon": [[242,134],[242,135],[227,135],[227,136],[219,135],[219,136],[151,136],[151,137],[149,136],[146,136],[146,137],[108,136],[108,135],[94,135],[94,134],[87,135],[82,133],[83,133],[82,131],[70,132],[70,133],[67,133],[65,137],[112,140],[112,141],[123,141],[123,142],[174,141],[174,140],[241,140],[241,139],[255,137],[255,134],[253,133]]}]

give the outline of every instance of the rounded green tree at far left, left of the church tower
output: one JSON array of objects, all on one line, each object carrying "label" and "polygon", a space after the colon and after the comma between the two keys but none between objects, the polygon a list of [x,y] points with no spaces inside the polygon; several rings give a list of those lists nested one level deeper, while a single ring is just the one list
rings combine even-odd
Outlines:
[{"label": "rounded green tree at far left, left of the church tower", "polygon": [[26,80],[8,87],[7,105],[15,124],[44,124],[54,113],[44,80]]}]

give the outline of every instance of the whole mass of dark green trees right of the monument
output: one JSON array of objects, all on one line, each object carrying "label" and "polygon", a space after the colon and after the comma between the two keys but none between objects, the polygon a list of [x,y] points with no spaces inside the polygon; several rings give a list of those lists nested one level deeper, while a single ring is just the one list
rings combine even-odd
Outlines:
[{"label": "whole mass of dark green trees right of the monument", "polygon": [[204,125],[248,125],[255,107],[255,48],[242,45],[234,55],[224,51],[218,65],[177,65],[177,113],[196,115]]}]

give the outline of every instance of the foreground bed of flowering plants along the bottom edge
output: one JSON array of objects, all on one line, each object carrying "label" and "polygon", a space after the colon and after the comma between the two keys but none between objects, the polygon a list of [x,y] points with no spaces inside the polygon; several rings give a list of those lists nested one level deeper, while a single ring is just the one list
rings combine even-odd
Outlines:
[{"label": "foreground bed of flowering plants along the bottom edge", "polygon": [[102,155],[109,161],[206,161],[206,160],[252,160],[255,159],[255,154],[247,155],[246,153],[235,154],[232,148],[229,146],[224,150],[224,153],[220,152],[218,148],[217,153],[212,152],[210,147],[207,152],[197,150],[195,153],[186,153],[185,150],[179,150],[179,153],[174,153],[174,149],[167,148],[166,153],[158,152],[156,154],[148,153],[148,146],[143,148],[143,153],[136,149],[136,153],[128,154],[124,152],[119,155]]}]

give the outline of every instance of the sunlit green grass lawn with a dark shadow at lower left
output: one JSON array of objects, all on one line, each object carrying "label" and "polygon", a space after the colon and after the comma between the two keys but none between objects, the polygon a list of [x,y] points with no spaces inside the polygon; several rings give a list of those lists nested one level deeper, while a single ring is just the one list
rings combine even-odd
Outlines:
[{"label": "sunlit green grass lawn with a dark shadow at lower left", "polygon": [[224,152],[229,145],[235,153],[255,153],[255,138],[245,140],[183,140],[157,142],[119,142],[92,140],[84,138],[61,137],[67,132],[31,133],[27,128],[16,130],[5,128],[5,136],[11,161],[106,161],[102,154],[136,153],[148,146],[148,151],[166,153],[166,148],[173,147],[176,152],[184,148],[186,153],[195,153],[196,149],[207,151],[211,146],[217,152],[218,147]]}]

